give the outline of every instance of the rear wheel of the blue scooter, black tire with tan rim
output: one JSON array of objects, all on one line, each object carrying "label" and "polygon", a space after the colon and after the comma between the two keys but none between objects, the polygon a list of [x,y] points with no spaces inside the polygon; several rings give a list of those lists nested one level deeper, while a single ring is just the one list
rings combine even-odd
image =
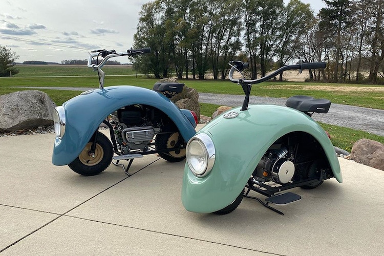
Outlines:
[{"label": "rear wheel of the blue scooter, black tire with tan rim", "polygon": [[[156,135],[155,147],[157,150],[175,147],[176,143],[183,139],[178,132],[164,133]],[[159,153],[159,156],[164,160],[176,163],[185,159],[185,148],[182,150],[172,151],[168,153]]]}]

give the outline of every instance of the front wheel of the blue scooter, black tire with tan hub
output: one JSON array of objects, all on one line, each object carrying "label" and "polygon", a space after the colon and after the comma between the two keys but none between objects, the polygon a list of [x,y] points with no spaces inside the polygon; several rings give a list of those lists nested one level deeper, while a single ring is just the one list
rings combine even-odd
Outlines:
[{"label": "front wheel of the blue scooter, black tire with tan hub", "polygon": [[88,154],[91,146],[92,141],[87,143],[86,147],[72,163],[68,164],[75,173],[83,176],[94,176],[103,172],[111,164],[113,147],[108,137],[97,132],[95,157]]}]

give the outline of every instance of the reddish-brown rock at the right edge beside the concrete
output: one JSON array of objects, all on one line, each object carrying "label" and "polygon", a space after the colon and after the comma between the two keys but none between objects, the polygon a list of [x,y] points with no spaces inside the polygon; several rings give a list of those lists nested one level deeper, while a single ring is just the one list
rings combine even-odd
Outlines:
[{"label": "reddish-brown rock at the right edge beside the concrete", "polygon": [[351,160],[384,170],[384,145],[374,140],[360,139],[352,146]]}]

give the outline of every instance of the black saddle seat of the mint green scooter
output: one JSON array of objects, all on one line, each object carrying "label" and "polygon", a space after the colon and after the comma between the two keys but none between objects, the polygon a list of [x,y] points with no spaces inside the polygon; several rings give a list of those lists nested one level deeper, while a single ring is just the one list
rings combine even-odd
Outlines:
[{"label": "black saddle seat of the mint green scooter", "polygon": [[288,98],[285,105],[305,113],[328,113],[331,101],[328,99],[315,99],[309,96],[296,95]]}]

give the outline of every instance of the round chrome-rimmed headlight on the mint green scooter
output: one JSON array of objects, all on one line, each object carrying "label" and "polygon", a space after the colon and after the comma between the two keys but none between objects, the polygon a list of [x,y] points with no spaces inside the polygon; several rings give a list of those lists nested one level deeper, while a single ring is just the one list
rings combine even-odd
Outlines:
[{"label": "round chrome-rimmed headlight on the mint green scooter", "polygon": [[204,177],[209,174],[214,167],[215,155],[214,142],[204,133],[194,136],[187,144],[187,163],[197,177]]}]

